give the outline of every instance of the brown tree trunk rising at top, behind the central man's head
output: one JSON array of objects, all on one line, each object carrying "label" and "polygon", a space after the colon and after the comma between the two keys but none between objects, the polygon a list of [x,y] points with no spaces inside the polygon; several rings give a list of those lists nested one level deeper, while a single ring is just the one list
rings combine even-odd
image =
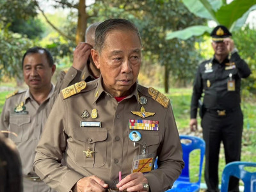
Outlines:
[{"label": "brown tree trunk rising at top, behind the central man's head", "polygon": [[86,0],[79,0],[78,19],[76,28],[76,44],[84,42],[88,15],[86,14]]}]

